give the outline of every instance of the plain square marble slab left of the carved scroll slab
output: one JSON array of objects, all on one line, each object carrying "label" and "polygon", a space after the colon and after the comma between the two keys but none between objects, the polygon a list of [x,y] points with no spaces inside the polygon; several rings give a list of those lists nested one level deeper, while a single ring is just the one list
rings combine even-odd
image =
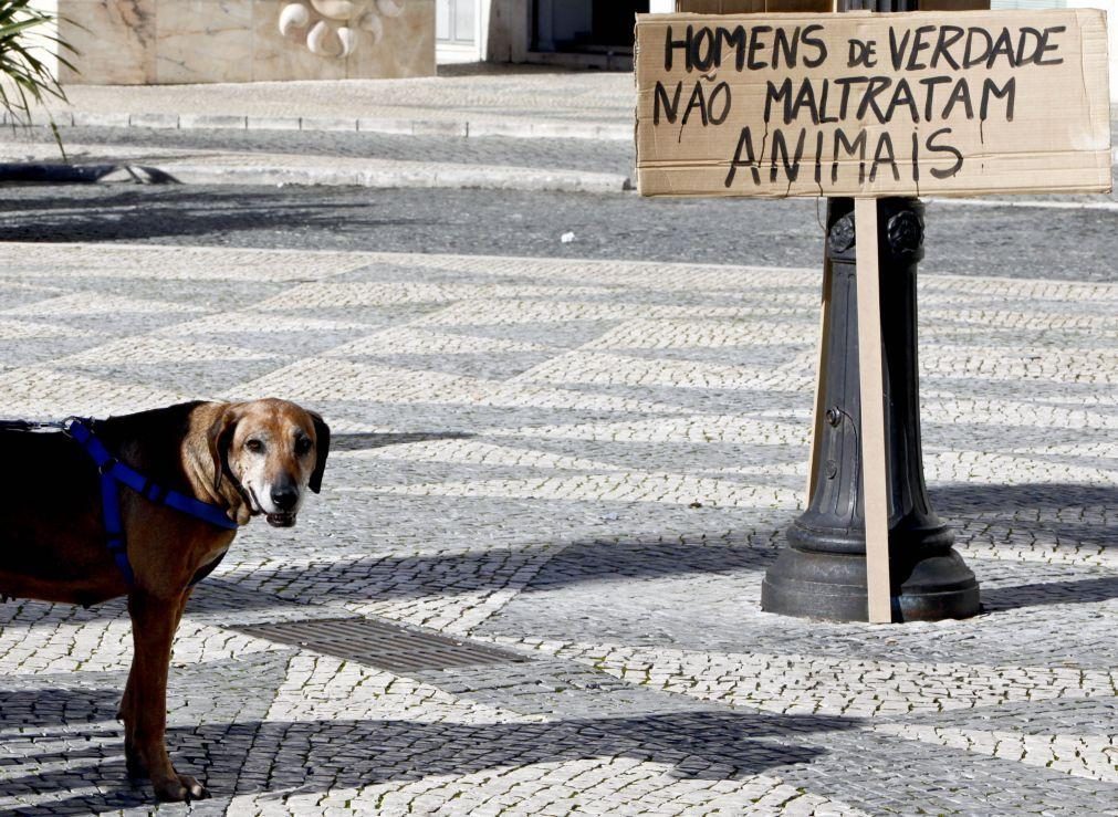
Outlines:
[{"label": "plain square marble slab left of the carved scroll slab", "polygon": [[253,6],[246,0],[162,0],[155,32],[158,83],[253,78]]}]

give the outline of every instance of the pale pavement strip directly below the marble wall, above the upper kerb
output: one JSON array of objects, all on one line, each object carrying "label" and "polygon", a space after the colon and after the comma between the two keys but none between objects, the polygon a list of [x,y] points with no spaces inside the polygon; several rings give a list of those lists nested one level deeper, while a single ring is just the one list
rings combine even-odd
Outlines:
[{"label": "pale pavement strip directly below the marble wall, above the upper kerb", "polygon": [[439,76],[211,85],[70,85],[58,122],[150,127],[381,130],[627,140],[632,72],[447,65]]}]

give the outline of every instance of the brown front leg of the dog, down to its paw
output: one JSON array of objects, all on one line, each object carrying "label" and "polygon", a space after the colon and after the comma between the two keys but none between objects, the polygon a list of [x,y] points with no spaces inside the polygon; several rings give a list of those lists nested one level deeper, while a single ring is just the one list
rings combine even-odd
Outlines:
[{"label": "brown front leg of the dog, down to its paw", "polygon": [[164,740],[171,642],[184,604],[184,593],[159,598],[135,590],[129,596],[135,654],[121,704],[129,772],[146,772],[160,800],[196,800],[209,796],[192,777],[174,771]]}]

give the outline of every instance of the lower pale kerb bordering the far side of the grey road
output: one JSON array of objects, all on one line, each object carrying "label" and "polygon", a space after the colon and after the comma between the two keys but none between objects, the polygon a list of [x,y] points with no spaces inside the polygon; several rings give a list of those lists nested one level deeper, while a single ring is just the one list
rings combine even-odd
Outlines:
[{"label": "lower pale kerb bordering the far side of the grey road", "polygon": [[215,167],[168,162],[161,167],[140,164],[0,163],[0,183],[112,183],[323,186],[363,187],[379,190],[521,190],[527,192],[619,193],[633,189],[627,177],[529,168],[470,168],[466,165],[410,167],[405,169],[331,169],[314,167]]}]

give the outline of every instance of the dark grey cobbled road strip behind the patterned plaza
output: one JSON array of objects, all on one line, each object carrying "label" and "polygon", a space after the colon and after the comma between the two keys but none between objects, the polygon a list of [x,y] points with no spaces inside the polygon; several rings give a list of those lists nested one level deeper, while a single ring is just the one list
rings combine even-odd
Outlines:
[{"label": "dark grey cobbled road strip behind the patterned plaza", "polygon": [[[921,269],[1118,283],[1118,210],[930,201]],[[816,267],[826,205],[508,190],[0,186],[0,241],[463,253]],[[570,234],[570,240],[562,237]]]}]

